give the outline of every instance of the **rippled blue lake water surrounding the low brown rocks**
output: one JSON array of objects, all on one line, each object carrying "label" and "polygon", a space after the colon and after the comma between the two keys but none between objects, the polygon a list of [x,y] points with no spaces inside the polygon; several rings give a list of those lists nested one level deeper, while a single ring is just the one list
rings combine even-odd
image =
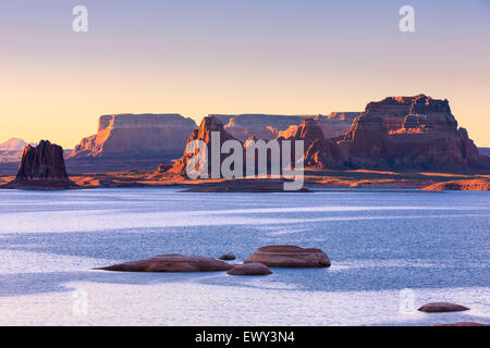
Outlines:
[{"label": "rippled blue lake water surrounding the low brown rocks", "polygon": [[[490,323],[490,192],[0,191],[0,325]],[[93,268],[159,253],[321,248],[269,276]],[[422,313],[430,301],[469,307]]]}]

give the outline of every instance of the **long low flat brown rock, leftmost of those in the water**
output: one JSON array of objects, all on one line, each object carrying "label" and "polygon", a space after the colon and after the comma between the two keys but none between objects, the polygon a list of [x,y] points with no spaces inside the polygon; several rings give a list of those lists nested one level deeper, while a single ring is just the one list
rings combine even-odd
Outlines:
[{"label": "long low flat brown rock, leftmost of those in the water", "polygon": [[228,271],[232,266],[226,262],[211,258],[169,253],[95,270],[121,272],[217,272]]}]

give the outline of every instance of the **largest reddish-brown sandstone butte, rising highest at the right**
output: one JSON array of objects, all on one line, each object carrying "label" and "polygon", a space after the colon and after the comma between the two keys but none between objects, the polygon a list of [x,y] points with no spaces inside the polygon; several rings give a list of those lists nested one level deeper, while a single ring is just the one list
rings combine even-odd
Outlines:
[{"label": "largest reddish-brown sandstone butte, rising highest at the right", "polygon": [[[304,134],[318,121],[299,125]],[[434,169],[478,167],[479,153],[466,129],[458,128],[448,100],[419,95],[370,102],[351,129],[333,139],[311,141],[305,164],[319,167]]]}]

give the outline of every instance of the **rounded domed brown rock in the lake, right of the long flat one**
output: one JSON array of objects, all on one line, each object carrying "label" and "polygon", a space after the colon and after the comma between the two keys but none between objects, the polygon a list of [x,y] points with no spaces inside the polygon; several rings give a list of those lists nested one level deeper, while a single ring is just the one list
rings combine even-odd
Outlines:
[{"label": "rounded domed brown rock in the lake, right of the long flat one", "polygon": [[271,268],[328,268],[331,264],[320,249],[281,245],[258,248],[244,263],[254,262]]}]

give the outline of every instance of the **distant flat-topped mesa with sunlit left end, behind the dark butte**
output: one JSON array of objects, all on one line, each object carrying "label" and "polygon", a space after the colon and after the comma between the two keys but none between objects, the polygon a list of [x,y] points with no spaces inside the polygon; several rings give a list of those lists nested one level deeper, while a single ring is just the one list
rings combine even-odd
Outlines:
[{"label": "distant flat-topped mesa with sunlit left end, behind the dark butte", "polygon": [[174,159],[195,127],[180,114],[103,115],[97,134],[82,139],[68,159]]}]

